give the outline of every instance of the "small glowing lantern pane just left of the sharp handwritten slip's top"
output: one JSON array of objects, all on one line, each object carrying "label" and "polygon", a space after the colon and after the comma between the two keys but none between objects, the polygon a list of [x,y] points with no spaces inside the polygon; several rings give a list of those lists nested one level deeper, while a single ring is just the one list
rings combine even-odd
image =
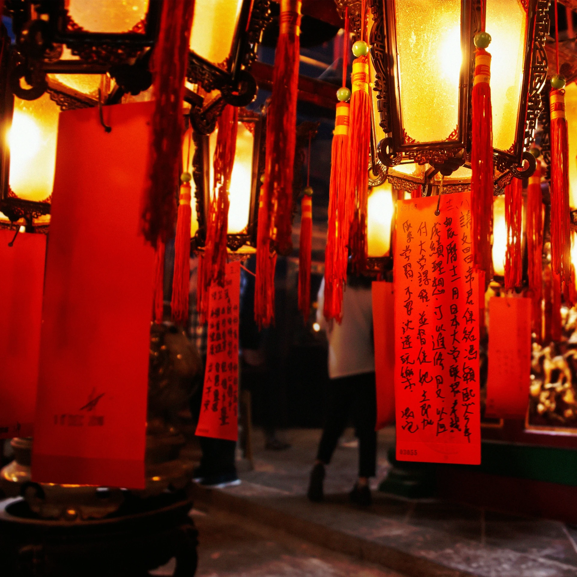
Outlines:
[{"label": "small glowing lantern pane just left of the sharp handwritten slip's top", "polygon": [[391,224],[394,213],[392,186],[385,182],[369,194],[367,218],[367,253],[382,257],[391,250]]}]

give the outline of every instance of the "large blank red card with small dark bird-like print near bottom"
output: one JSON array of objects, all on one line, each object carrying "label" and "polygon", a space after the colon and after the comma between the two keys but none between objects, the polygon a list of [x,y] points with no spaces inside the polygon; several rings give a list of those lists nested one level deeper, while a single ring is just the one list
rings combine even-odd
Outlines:
[{"label": "large blank red card with small dark bird-like print near bottom", "polygon": [[61,113],[32,478],[144,488],[153,250],[138,234],[153,102]]}]

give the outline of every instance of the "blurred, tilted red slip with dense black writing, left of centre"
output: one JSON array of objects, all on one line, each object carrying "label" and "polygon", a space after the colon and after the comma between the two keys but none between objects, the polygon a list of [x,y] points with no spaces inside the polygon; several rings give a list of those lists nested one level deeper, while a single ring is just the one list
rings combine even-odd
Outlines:
[{"label": "blurred, tilted red slip with dense black writing, left of centre", "polygon": [[238,306],[240,263],[228,263],[224,287],[212,284],[208,295],[207,365],[203,402],[196,434],[228,439],[238,437]]}]

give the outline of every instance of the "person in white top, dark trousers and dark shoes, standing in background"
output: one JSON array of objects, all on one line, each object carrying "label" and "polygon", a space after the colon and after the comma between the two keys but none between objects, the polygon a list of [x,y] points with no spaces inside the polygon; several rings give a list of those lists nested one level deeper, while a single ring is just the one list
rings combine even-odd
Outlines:
[{"label": "person in white top, dark trousers and dark shoes, standing in background", "polygon": [[323,316],[325,280],[319,288],[317,323],[327,332],[328,372],[331,378],[327,419],[317,459],[310,473],[308,497],[323,500],[325,466],[352,418],[359,445],[358,479],[350,499],[370,505],[369,478],[376,474],[377,418],[374,376],[373,313],[370,279],[349,275],[343,295],[343,320],[327,323]]}]

